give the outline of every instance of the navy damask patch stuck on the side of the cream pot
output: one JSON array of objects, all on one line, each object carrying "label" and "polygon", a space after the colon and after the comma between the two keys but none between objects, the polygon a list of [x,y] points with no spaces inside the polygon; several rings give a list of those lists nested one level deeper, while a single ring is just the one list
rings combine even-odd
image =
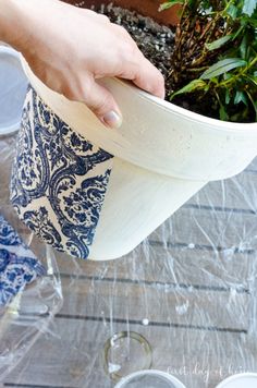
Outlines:
[{"label": "navy damask patch stuck on the side of the cream pot", "polygon": [[39,238],[59,251],[87,258],[111,167],[112,155],[72,131],[28,88],[11,201]]}]

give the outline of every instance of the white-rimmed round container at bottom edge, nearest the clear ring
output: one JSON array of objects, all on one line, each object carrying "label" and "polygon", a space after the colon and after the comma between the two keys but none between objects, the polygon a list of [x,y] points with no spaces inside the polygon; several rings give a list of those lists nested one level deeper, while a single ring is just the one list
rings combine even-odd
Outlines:
[{"label": "white-rimmed round container at bottom edge, nearest the clear ring", "polygon": [[122,378],[114,388],[185,388],[174,376],[161,371],[139,371]]}]

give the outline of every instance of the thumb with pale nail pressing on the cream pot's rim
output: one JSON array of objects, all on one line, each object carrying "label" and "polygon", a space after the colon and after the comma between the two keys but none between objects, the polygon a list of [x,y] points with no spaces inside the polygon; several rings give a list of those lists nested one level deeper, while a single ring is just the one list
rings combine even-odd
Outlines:
[{"label": "thumb with pale nail pressing on the cream pot's rim", "polygon": [[90,92],[86,93],[84,102],[108,128],[118,129],[122,124],[122,113],[111,93],[93,81]]}]

